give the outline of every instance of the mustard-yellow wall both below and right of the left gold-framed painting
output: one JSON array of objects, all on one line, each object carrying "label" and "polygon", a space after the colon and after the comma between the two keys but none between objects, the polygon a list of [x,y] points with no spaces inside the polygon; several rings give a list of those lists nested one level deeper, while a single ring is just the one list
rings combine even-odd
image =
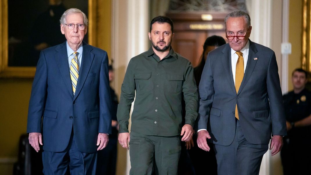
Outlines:
[{"label": "mustard-yellow wall both below and right of the left gold-framed painting", "polygon": [[[111,0],[98,1],[98,35],[94,44],[111,53]],[[26,133],[28,104],[33,79],[0,79],[0,174],[12,174],[21,134]],[[13,159],[12,159],[13,158]],[[7,160],[9,162],[7,163]]]}]

